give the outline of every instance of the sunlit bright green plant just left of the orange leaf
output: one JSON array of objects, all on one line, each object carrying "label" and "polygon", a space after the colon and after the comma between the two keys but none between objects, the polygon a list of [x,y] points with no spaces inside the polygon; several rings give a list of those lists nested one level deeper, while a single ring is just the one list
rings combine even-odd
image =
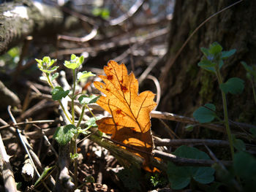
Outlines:
[{"label": "sunlit bright green plant just left of the orange leaf", "polygon": [[[70,142],[70,158],[72,159],[72,161],[74,161],[74,180],[76,186],[78,185],[78,165],[76,161],[76,158],[78,158],[78,153],[76,139],[78,138],[79,134],[89,134],[88,129],[97,126],[95,123],[97,119],[89,109],[88,104],[94,103],[97,101],[97,99],[99,99],[99,96],[88,96],[82,93],[75,93],[75,87],[78,82],[80,82],[80,80],[95,76],[95,74],[92,74],[91,72],[78,72],[80,65],[83,64],[83,60],[83,56],[77,57],[76,55],[72,54],[70,61],[64,61],[64,66],[66,66],[68,69],[71,69],[73,74],[72,91],[69,91],[64,90],[64,88],[59,85],[55,86],[53,83],[53,80],[59,77],[59,73],[56,72],[59,66],[53,66],[53,64],[56,63],[56,60],[50,59],[50,57],[44,57],[42,58],[42,60],[36,59],[37,67],[42,71],[42,77],[40,77],[40,79],[48,82],[48,85],[50,85],[50,87],[52,88],[52,99],[54,101],[59,101],[61,109],[63,110],[64,115],[68,121],[67,125],[60,126],[56,129],[53,138],[56,139],[59,145],[67,145],[67,143]],[[64,99],[67,96],[69,96],[69,99],[71,100],[71,117],[68,115],[69,113],[67,112],[67,110],[65,110],[64,105],[61,102],[61,99]],[[75,99],[77,98],[83,107],[80,117],[78,118],[78,122],[76,123],[74,105]],[[86,108],[91,112],[92,118],[86,122],[87,128],[81,128],[80,123],[83,119],[83,114]]]}]

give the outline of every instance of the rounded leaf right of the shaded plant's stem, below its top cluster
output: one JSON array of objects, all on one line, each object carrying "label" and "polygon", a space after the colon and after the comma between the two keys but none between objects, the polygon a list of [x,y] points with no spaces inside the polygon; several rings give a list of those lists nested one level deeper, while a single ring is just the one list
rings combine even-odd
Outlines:
[{"label": "rounded leaf right of the shaded plant's stem, below its top cluster", "polygon": [[224,93],[230,92],[232,94],[239,94],[244,90],[244,80],[238,77],[232,77],[227,80],[227,82],[220,84],[219,88],[221,88]]}]

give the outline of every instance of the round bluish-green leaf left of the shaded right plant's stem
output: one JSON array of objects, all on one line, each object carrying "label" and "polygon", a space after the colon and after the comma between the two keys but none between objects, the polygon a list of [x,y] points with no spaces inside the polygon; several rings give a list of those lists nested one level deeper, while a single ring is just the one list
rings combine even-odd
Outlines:
[{"label": "round bluish-green leaf left of the shaded right plant's stem", "polygon": [[216,107],[214,104],[205,104],[193,112],[193,117],[199,123],[209,123],[217,116],[215,113]]}]

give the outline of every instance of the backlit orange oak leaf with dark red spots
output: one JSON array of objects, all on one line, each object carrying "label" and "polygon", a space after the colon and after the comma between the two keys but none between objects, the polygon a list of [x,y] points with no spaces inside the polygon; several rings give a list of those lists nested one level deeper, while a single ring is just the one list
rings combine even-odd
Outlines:
[{"label": "backlit orange oak leaf with dark red spots", "polygon": [[[138,80],[133,73],[127,73],[124,64],[118,65],[116,61],[109,61],[104,71],[106,75],[99,77],[105,83],[94,82],[94,86],[105,93],[97,104],[108,111],[111,117],[97,120],[99,130],[112,134],[111,139],[116,142],[151,153],[153,139],[149,114],[157,106],[154,93],[144,91],[138,94]],[[144,153],[136,150],[133,152],[147,158]]]}]

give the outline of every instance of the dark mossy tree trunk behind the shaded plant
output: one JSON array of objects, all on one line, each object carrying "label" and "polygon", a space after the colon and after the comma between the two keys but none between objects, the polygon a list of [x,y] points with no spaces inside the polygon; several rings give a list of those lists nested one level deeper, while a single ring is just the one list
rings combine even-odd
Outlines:
[{"label": "dark mossy tree trunk behind the shaded plant", "polygon": [[[176,1],[166,61],[174,58],[189,34],[203,20],[234,2],[236,1]],[[200,47],[219,42],[224,50],[237,50],[236,55],[226,60],[222,68],[224,80],[230,77],[245,80],[244,93],[238,96],[227,95],[229,116],[233,120],[245,120],[247,123],[255,121],[252,86],[240,64],[241,61],[246,61],[249,65],[255,64],[255,10],[256,1],[245,0],[220,13],[197,31],[173,66],[163,64],[160,75],[162,101],[159,110],[192,116],[192,112],[200,105],[213,103],[222,112],[217,78],[197,66],[203,55]]]}]

